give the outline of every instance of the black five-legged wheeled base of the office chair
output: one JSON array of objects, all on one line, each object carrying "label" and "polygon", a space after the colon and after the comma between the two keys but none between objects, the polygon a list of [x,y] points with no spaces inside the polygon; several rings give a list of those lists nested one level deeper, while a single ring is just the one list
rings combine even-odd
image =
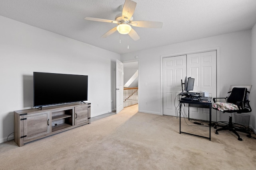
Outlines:
[{"label": "black five-legged wheeled base of the office chair", "polygon": [[[218,127],[221,127],[220,129],[217,129]],[[240,125],[238,123],[232,123],[232,116],[229,117],[229,121],[219,121],[216,122],[214,129],[216,129],[215,134],[219,134],[218,131],[224,131],[224,130],[229,130],[232,131],[234,134],[236,134],[236,136],[238,137],[238,141],[242,141],[243,139],[240,138],[240,135],[237,133],[237,131],[239,132],[243,132],[243,133],[247,133],[247,137],[252,137],[251,133],[249,131],[246,130],[246,127],[243,125]]]}]

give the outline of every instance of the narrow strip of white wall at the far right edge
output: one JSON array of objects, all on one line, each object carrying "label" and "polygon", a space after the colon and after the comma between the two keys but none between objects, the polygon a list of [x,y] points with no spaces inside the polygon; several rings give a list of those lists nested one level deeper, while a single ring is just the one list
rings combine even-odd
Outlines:
[{"label": "narrow strip of white wall at the far right edge", "polygon": [[250,106],[252,113],[250,117],[250,124],[254,127],[256,132],[256,24],[252,28],[252,92],[250,94]]}]

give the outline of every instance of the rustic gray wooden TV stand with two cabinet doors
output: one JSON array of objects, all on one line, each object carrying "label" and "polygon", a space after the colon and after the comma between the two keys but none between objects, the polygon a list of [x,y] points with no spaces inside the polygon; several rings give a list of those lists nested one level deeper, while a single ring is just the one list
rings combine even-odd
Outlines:
[{"label": "rustic gray wooden TV stand with two cabinet doors", "polygon": [[19,147],[91,123],[91,104],[72,103],[14,111],[14,141]]}]

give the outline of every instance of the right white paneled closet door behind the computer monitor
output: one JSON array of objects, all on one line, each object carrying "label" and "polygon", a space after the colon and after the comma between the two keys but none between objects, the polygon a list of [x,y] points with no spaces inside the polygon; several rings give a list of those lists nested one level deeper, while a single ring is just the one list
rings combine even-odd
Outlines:
[{"label": "right white paneled closet door behind the computer monitor", "polygon": [[[187,55],[187,77],[195,78],[194,92],[207,91],[210,97],[216,96],[216,51]],[[190,118],[210,120],[209,109],[190,107]],[[215,114],[212,121],[216,121]]]}]

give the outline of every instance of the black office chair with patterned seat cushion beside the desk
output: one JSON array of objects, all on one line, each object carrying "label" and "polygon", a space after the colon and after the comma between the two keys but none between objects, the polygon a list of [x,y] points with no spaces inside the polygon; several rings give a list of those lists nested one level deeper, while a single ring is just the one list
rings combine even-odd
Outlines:
[{"label": "black office chair with patterned seat cushion beside the desk", "polygon": [[[213,109],[222,111],[222,113],[229,113],[229,121],[219,121],[216,122],[214,129],[216,129],[216,134],[218,131],[229,130],[238,136],[238,140],[242,141],[237,131],[247,133],[247,137],[252,137],[248,128],[244,125],[238,123],[232,123],[232,113],[249,113],[252,111],[249,104],[249,94],[252,85],[231,85],[228,90],[228,96],[226,98],[213,98],[214,106]],[[216,102],[216,99],[223,100],[226,102]],[[217,129],[217,127],[221,127]]]}]

